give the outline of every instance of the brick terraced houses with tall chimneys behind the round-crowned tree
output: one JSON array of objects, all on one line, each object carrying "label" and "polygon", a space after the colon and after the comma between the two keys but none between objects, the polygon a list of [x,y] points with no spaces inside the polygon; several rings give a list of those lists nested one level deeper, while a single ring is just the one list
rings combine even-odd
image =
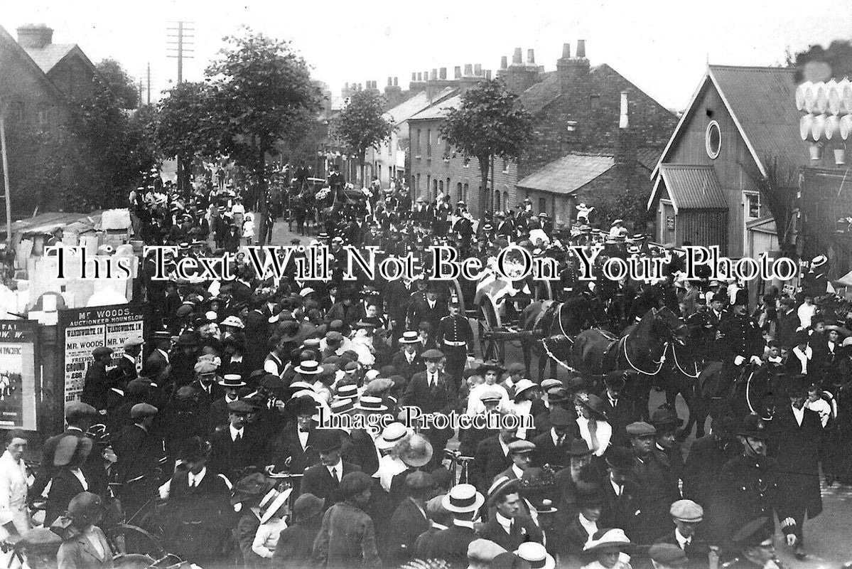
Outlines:
[{"label": "brick terraced houses with tall chimneys behind the round-crowned tree", "polygon": [[[510,90],[519,93],[521,106],[533,115],[534,137],[520,160],[494,165],[494,191],[492,193],[489,188],[487,209],[507,209],[530,196],[535,198],[533,209],[536,212],[547,212],[556,223],[568,224],[573,217],[578,190],[583,190],[581,198],[590,205],[625,190],[647,195],[650,189],[648,171],[665,146],[676,117],[612,67],[606,64],[590,67],[583,40],[578,42],[575,57],[571,56],[568,44],[563,46],[556,71],[544,72],[543,67],[536,64],[532,49],[527,52],[527,61],[522,61],[522,50],[517,48],[511,64],[507,57],[503,58],[497,75]],[[623,92],[628,100],[628,129],[619,129]],[[417,136],[412,134],[412,148],[415,149],[412,150],[410,180],[416,195],[428,192],[434,196],[443,187],[453,201],[467,201],[471,211],[478,214],[481,210],[479,165],[475,160],[466,163],[462,157],[441,158],[446,148],[441,148],[436,157],[435,148],[432,148],[443,146],[435,133],[440,131],[448,108],[459,103],[460,97],[447,99],[410,119],[412,133],[419,131],[422,136],[418,145]],[[419,159],[417,146],[422,150]],[[575,157],[569,163],[552,164],[572,153]],[[586,180],[579,188],[573,186],[582,181],[582,177],[573,182],[561,182],[559,172],[562,168],[589,166],[591,170],[599,170],[601,160],[592,160],[596,155],[609,155],[617,163],[607,168],[607,177],[591,185],[591,180]],[[596,165],[580,164],[582,156],[596,161]],[[529,177],[543,168],[547,171],[539,178],[549,177],[550,180],[540,187],[532,187],[535,178]],[[519,185],[523,180],[526,180],[525,185]]]}]

